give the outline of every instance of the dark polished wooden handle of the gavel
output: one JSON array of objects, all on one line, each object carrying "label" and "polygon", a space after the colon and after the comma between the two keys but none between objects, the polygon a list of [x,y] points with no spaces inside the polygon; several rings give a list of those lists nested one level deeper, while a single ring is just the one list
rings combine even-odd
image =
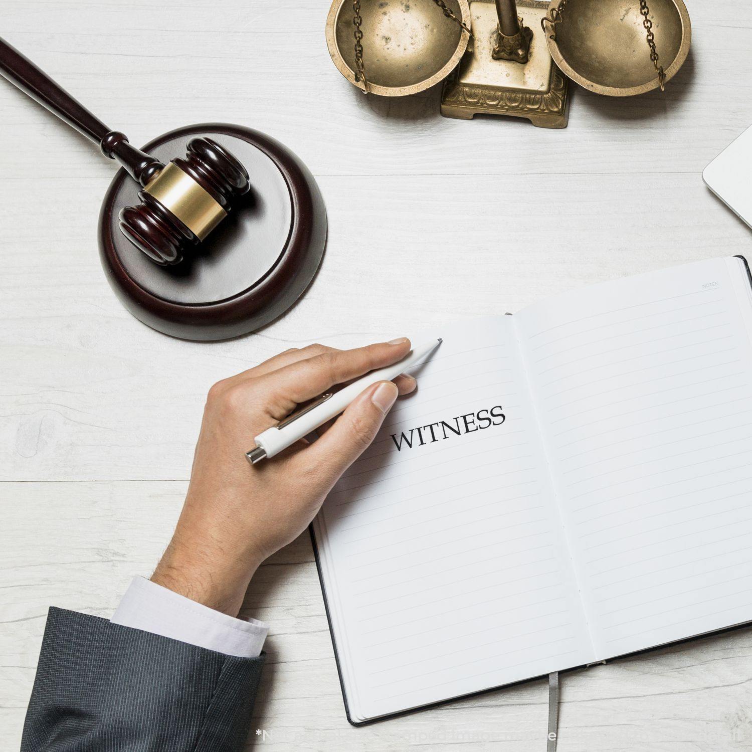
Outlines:
[{"label": "dark polished wooden handle of the gavel", "polygon": [[0,75],[56,114],[60,120],[64,120],[90,141],[98,144],[105,156],[117,159],[141,185],[146,185],[164,166],[153,156],[132,147],[125,134],[105,126],[102,120],[92,115],[80,102],[2,37],[0,37]]}]

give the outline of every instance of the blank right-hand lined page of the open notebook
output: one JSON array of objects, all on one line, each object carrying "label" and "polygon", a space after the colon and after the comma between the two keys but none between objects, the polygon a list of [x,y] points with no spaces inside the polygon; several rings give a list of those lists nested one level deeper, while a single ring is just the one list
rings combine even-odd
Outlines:
[{"label": "blank right-hand lined page of the open notebook", "polygon": [[599,659],[752,619],[750,311],[713,259],[514,317]]}]

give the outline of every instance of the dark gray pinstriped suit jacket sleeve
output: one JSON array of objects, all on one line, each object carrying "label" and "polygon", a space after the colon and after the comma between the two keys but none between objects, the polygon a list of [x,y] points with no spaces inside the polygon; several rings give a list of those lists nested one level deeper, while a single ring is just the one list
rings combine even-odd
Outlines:
[{"label": "dark gray pinstriped suit jacket sleeve", "polygon": [[263,660],[50,608],[21,752],[241,750]]}]

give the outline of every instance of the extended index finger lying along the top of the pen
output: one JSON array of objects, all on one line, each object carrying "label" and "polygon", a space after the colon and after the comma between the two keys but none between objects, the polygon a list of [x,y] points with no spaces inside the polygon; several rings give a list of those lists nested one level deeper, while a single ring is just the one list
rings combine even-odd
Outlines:
[{"label": "extended index finger lying along the top of the pen", "polygon": [[408,339],[400,338],[355,350],[332,350],[266,374],[259,379],[259,388],[268,390],[268,410],[281,420],[296,405],[323,394],[329,387],[401,360],[410,347]]}]

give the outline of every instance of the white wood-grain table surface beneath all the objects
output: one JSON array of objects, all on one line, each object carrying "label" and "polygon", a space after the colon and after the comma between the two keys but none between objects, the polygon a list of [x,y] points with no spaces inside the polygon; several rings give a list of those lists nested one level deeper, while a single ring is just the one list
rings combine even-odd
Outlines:
[{"label": "white wood-grain table surface beneath all the objects", "polygon": [[[516,311],[709,256],[752,232],[702,168],[752,123],[752,17],[690,0],[662,96],[582,89],[569,128],[444,120],[434,89],[366,99],[326,51],[327,0],[4,0],[2,34],[134,143],[244,123],[289,144],[329,211],[320,274],[286,316],[221,344],[167,338],[111,293],[96,248],[114,165],[0,82],[0,748],[17,749],[48,605],[109,616],[177,518],[217,379],[310,341],[350,345]],[[533,682],[361,729],[344,717],[306,535],[245,604],[271,624],[256,750],[544,749]],[[752,749],[752,629],[562,679],[559,748]]]}]

